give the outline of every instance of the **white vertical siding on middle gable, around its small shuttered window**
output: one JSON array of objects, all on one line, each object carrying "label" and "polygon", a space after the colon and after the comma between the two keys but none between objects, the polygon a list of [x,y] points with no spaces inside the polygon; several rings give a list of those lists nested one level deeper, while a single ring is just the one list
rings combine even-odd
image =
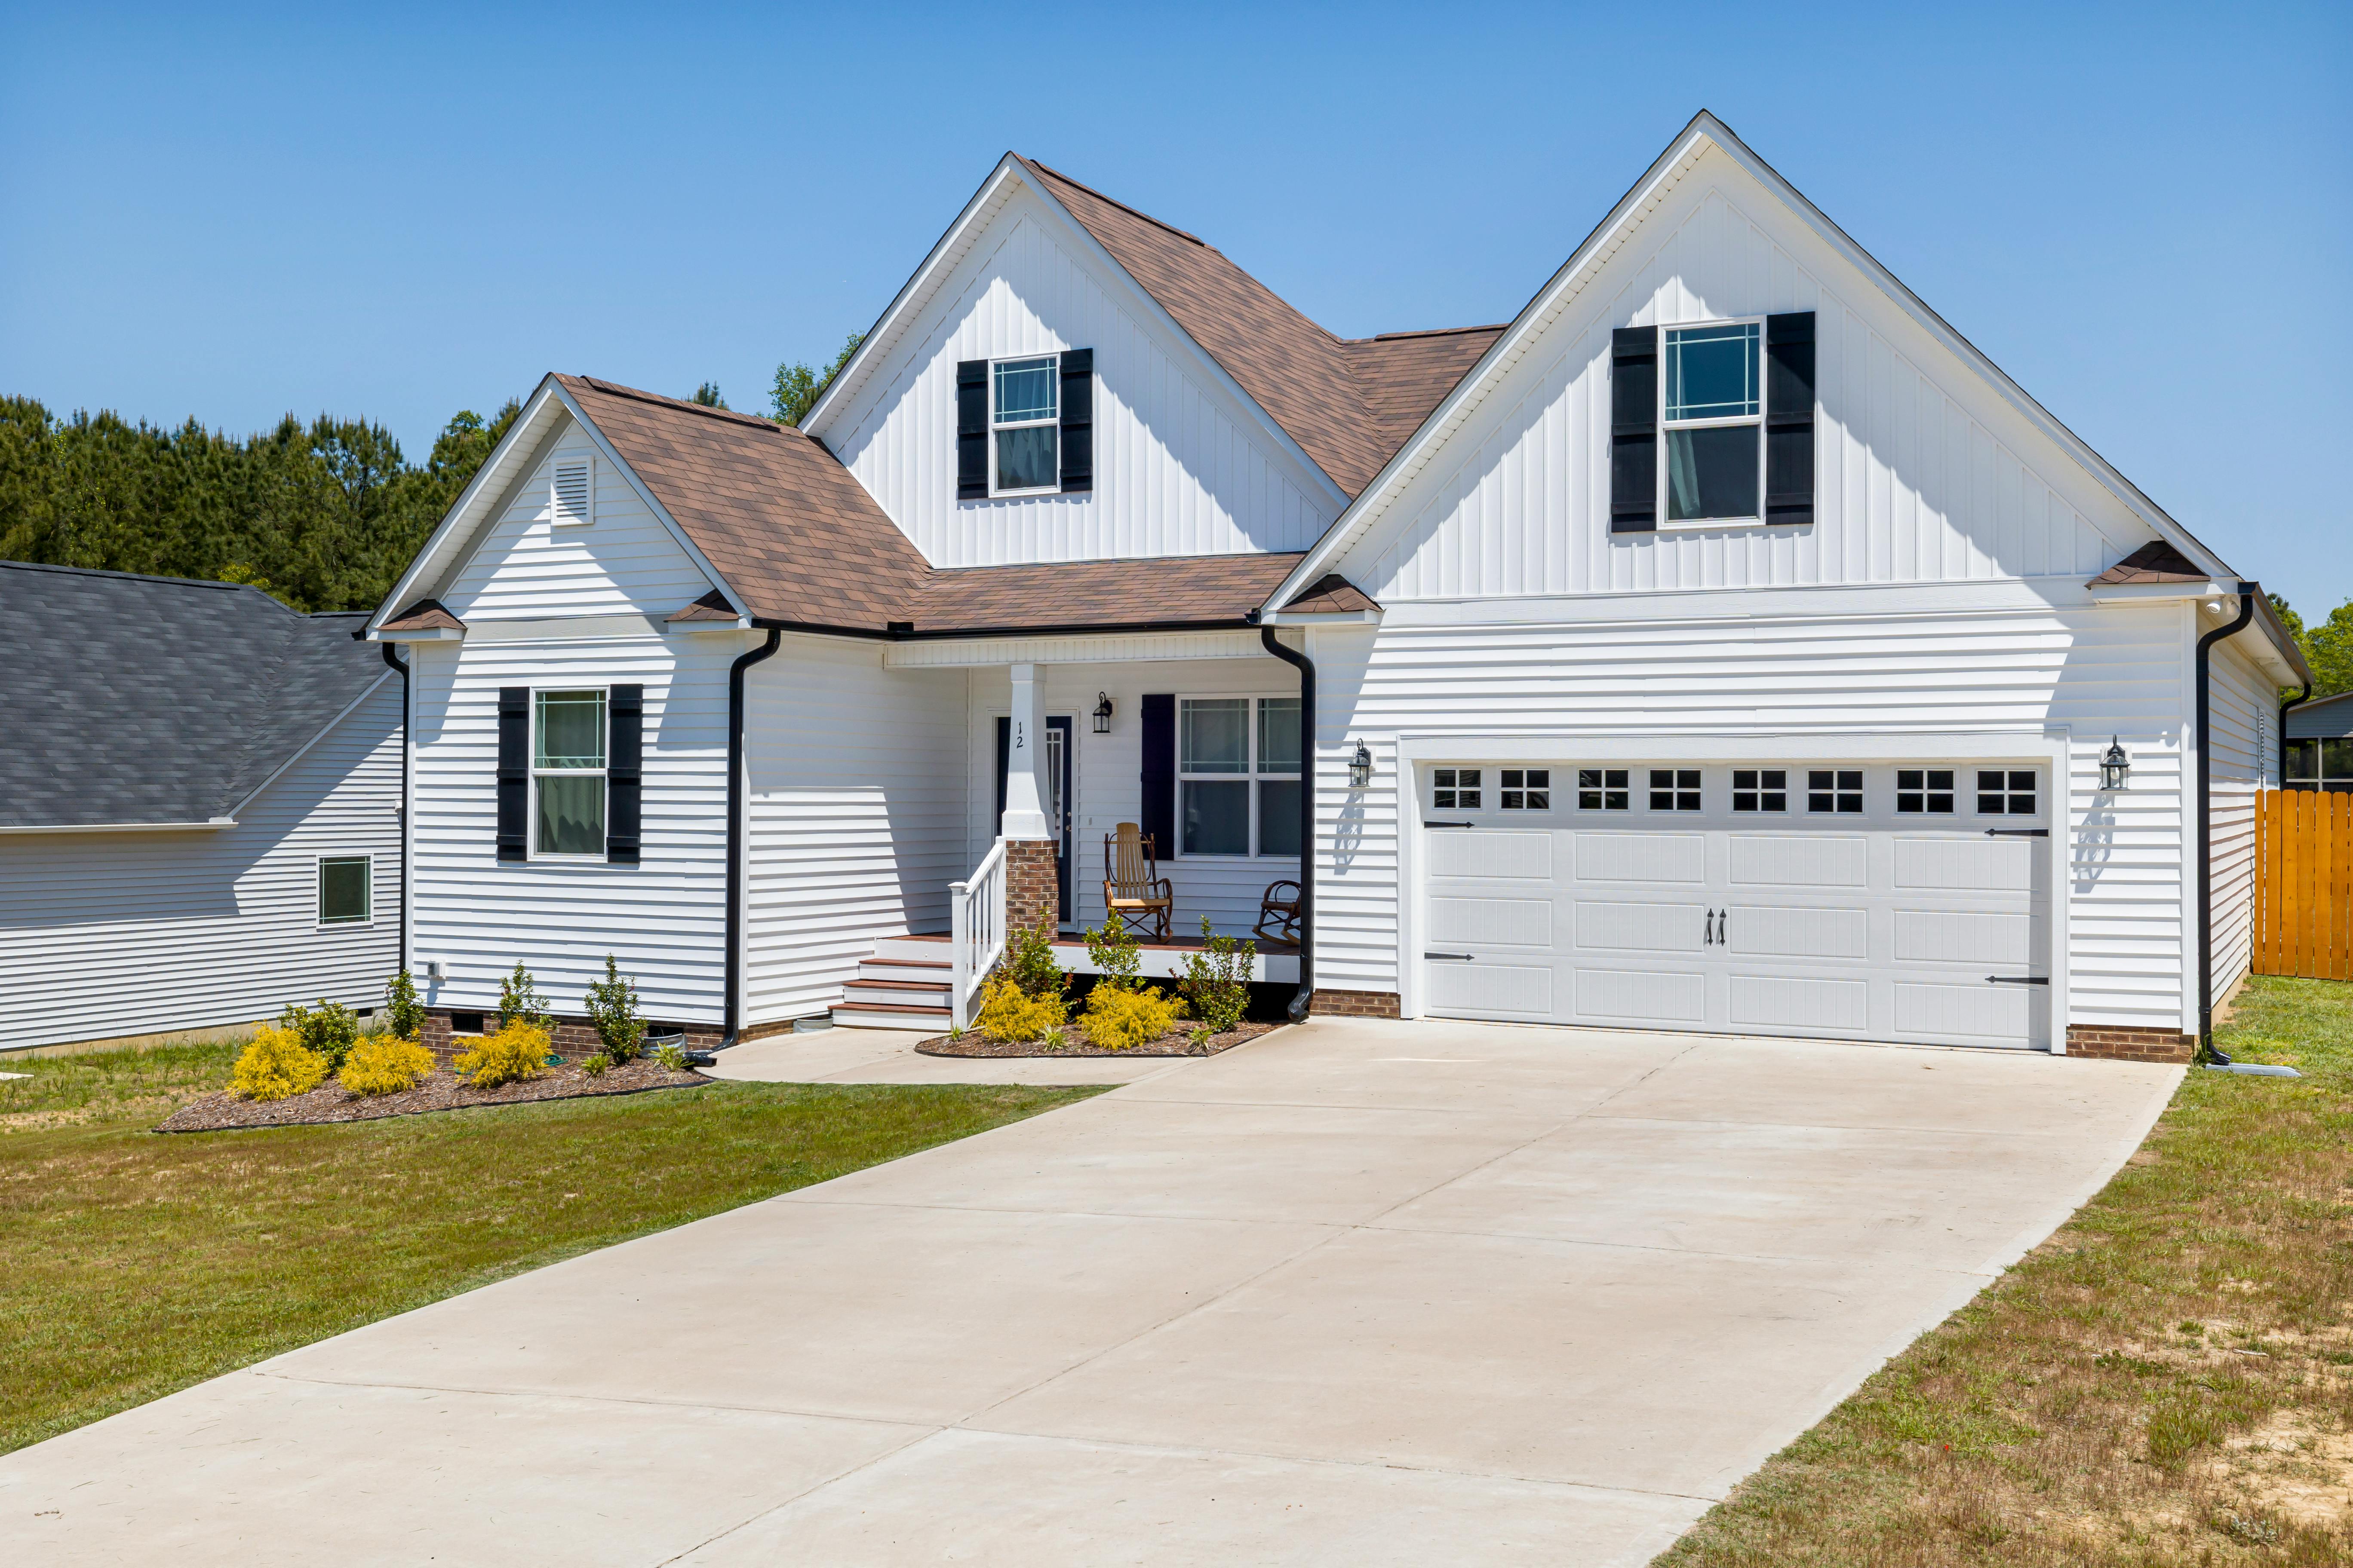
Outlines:
[{"label": "white vertical siding on middle gable, around its small shuttered window", "polygon": [[[1306,550],[1318,475],[1016,188],[859,395],[814,435],[934,567]],[[955,498],[955,364],[1094,350],[1094,489]]]}]

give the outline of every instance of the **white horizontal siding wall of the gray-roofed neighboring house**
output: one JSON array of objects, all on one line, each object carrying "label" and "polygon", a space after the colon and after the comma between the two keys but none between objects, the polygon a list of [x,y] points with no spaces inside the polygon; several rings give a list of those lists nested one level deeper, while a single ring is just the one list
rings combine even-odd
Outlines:
[{"label": "white horizontal siding wall of the gray-roofed neighboring house", "polygon": [[[318,860],[369,856],[367,924],[318,924]],[[216,832],[0,835],[0,1051],[376,1006],[400,947],[400,679]]]}]

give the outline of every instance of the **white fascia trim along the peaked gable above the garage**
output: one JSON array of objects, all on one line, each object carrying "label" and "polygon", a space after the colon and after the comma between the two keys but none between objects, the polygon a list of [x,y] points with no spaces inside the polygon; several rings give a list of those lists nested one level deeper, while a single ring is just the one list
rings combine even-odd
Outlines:
[{"label": "white fascia trim along the peaked gable above the garage", "polygon": [[1511,327],[1487,346],[1478,364],[1454,383],[1454,390],[1440,400],[1435,409],[1421,421],[1412,437],[1381,465],[1381,473],[1372,477],[1355,503],[1344,512],[1327,531],[1325,538],[1308,550],[1299,569],[1282,581],[1275,597],[1268,599],[1268,609],[1280,604],[1282,595],[1297,595],[1313,578],[1308,571],[1322,571],[1332,559],[1339,557],[1341,545],[1353,541],[1353,536],[1393,498],[1398,484],[1419,473],[1428,461],[1431,447],[1442,442],[1452,433],[1452,425],[1487,395],[1487,381],[1501,376],[1511,364],[1520,360],[1527,343],[1551,324],[1551,317],[1565,296],[1569,284],[1584,282],[1584,273],[1600,266],[1607,256],[1617,252],[1614,240],[1640,223],[1647,212],[1654,190],[1675,174],[1685,160],[1697,158],[1704,146],[1713,146],[1725,153],[1734,165],[1739,165],[1751,179],[1774,193],[1798,219],[1814,230],[1814,235],[1828,244],[1838,256],[1854,266],[1873,287],[1878,287],[1887,299],[1897,303],[1899,310],[1913,317],[1913,322],[1927,331],[1939,346],[1944,346],[1953,357],[1974,369],[1993,390],[2007,402],[2026,423],[2031,423],[2040,435],[2066,451],[2085,473],[2099,482],[2101,489],[2113,494],[2122,505],[2137,515],[2141,522],[2165,538],[2177,550],[2191,555],[2200,567],[2212,571],[2217,578],[2233,578],[2228,564],[2219,555],[2205,548],[2186,527],[2174,522],[2155,501],[2151,501],[2141,489],[2127,480],[2108,458],[2092,451],[2089,444],[2049,409],[2035,402],[2026,388],[2012,381],[2009,371],[1986,357],[1969,339],[1960,336],[1951,322],[1937,315],[1927,301],[1911,292],[1894,273],[1889,273],[1871,252],[1854,242],[1847,230],[1831,221],[1812,200],[1807,200],[1795,186],[1791,186],[1781,174],[1758,158],[1748,143],[1732,134],[1722,120],[1708,110],[1692,115],[1692,122],[1668,143],[1668,148],[1642,172],[1642,179],[1619,197],[1617,207],[1593,228],[1591,235],[1569,254],[1558,273],[1537,292],[1537,296],[1513,317]]}]

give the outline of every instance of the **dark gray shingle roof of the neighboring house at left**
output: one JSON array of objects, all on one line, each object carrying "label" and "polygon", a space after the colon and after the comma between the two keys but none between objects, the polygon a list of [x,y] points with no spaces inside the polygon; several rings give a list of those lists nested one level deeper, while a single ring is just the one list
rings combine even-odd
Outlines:
[{"label": "dark gray shingle roof of the neighboring house at left", "polygon": [[0,562],[0,827],[205,823],[388,675],[365,614]]}]

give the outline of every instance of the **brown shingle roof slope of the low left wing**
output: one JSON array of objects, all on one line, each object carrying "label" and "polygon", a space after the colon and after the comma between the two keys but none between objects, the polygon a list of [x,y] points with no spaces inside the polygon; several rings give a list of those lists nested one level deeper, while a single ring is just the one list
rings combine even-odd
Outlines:
[{"label": "brown shingle roof slope of the low left wing", "polygon": [[929,562],[816,440],[586,376],[558,376],[753,616],[882,632]]}]

